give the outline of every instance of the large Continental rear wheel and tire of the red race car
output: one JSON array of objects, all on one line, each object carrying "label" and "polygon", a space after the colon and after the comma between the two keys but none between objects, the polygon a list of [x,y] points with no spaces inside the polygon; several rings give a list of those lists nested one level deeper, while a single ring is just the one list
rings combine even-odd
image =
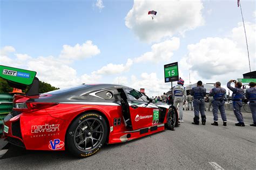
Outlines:
[{"label": "large Continental rear wheel and tire of the red race car", "polygon": [[90,112],[74,119],[66,134],[66,148],[76,157],[90,157],[99,151],[107,138],[106,120]]}]

